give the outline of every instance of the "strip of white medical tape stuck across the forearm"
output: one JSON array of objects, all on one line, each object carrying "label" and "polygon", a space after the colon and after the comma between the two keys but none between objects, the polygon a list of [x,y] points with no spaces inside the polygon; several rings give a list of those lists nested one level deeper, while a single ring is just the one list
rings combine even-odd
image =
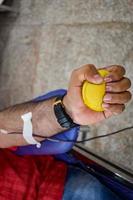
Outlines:
[{"label": "strip of white medical tape stuck across the forearm", "polygon": [[41,143],[35,140],[32,136],[33,127],[32,127],[32,113],[26,113],[21,116],[24,125],[23,125],[23,137],[29,144],[36,144],[37,148],[41,147]]}]

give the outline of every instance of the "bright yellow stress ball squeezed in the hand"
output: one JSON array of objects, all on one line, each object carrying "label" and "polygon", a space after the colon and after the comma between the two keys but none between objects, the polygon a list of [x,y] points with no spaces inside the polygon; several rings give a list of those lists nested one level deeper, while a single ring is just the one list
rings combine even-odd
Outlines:
[{"label": "bright yellow stress ball squeezed in the hand", "polygon": [[[109,74],[107,70],[98,70],[99,74],[102,77],[105,77]],[[102,84],[93,84],[85,81],[82,87],[82,97],[86,106],[91,108],[94,111],[102,112],[104,109],[102,108],[103,98],[106,91],[106,83]]]}]

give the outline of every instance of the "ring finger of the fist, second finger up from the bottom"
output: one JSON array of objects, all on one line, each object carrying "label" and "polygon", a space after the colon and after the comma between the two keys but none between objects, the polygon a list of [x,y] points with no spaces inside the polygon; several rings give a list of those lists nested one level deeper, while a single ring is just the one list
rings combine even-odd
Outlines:
[{"label": "ring finger of the fist, second finger up from the bottom", "polygon": [[124,104],[131,99],[131,93],[126,91],[122,93],[106,93],[103,101],[110,104]]}]

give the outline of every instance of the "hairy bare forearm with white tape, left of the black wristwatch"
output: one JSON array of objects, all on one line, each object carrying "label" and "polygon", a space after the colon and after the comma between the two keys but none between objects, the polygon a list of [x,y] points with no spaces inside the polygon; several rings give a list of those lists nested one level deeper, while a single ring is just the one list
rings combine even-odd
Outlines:
[{"label": "hairy bare forearm with white tape, left of the black wristwatch", "polygon": [[[44,137],[50,137],[65,130],[55,117],[53,110],[54,99],[43,102],[26,102],[11,106],[0,111],[0,129],[4,129],[8,134],[0,132],[0,147],[28,145],[22,136],[23,121],[21,115],[32,112],[33,133]],[[13,134],[10,134],[14,132]],[[17,134],[17,133],[20,134]],[[36,140],[42,141],[39,137]]]}]

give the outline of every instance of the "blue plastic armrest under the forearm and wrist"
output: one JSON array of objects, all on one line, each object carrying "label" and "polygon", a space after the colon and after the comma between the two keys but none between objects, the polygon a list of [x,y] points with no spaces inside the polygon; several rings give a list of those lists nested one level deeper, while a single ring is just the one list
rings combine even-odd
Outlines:
[{"label": "blue plastic armrest under the forearm and wrist", "polygon": [[[33,102],[45,101],[59,95],[65,95],[66,92],[67,91],[64,89],[55,90],[33,99]],[[51,138],[76,140],[78,137],[79,128],[79,126],[71,128],[67,131],[58,133]],[[56,155],[68,152],[70,149],[72,149],[73,145],[74,142],[55,142],[45,140],[41,142],[41,148],[36,148],[36,145],[22,146],[18,147],[15,153],[18,155]]]}]

